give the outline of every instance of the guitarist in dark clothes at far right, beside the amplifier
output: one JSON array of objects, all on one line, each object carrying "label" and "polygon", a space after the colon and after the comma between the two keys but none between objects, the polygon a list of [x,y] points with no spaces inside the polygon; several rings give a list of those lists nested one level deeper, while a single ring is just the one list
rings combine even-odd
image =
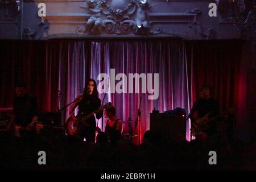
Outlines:
[{"label": "guitarist in dark clothes at far right, beside the amplifier", "polygon": [[[197,125],[205,121],[209,121],[211,118],[216,117],[219,114],[218,101],[212,97],[212,88],[208,84],[204,84],[200,89],[200,98],[195,102],[189,114],[192,125]],[[216,120],[215,120],[216,121]],[[207,129],[202,132],[208,135],[208,137],[217,133],[217,125],[214,120],[209,122]]]}]

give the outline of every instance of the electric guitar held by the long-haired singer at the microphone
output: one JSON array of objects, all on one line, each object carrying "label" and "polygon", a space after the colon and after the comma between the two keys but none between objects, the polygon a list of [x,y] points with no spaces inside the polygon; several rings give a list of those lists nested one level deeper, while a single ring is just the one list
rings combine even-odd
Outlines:
[{"label": "electric guitar held by the long-haired singer at the microphone", "polygon": [[101,109],[109,109],[110,107],[112,107],[112,103],[108,102],[108,104],[99,107],[98,109],[92,111],[92,113],[88,115],[77,115],[75,118],[69,117],[65,125],[67,135],[75,136],[79,132],[81,126],[89,126],[89,124],[86,123],[87,119],[92,117]]}]

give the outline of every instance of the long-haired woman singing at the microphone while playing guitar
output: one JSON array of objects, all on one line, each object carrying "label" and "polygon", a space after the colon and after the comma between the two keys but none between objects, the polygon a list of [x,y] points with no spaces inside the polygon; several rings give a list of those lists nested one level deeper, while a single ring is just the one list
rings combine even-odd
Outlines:
[{"label": "long-haired woman singing at the microphone while playing guitar", "polygon": [[[79,111],[77,116],[74,115],[74,110],[78,106]],[[96,81],[89,79],[86,81],[86,86],[83,94],[77,96],[75,102],[71,105],[69,109],[69,115],[73,119],[79,120],[85,115],[92,113],[92,111],[97,110],[101,106],[101,100],[98,98],[98,90]],[[100,119],[102,117],[102,110],[96,113],[96,118]],[[86,139],[86,142],[94,143],[96,137],[96,119],[94,115],[82,123],[80,127],[78,137],[81,139]]]}]

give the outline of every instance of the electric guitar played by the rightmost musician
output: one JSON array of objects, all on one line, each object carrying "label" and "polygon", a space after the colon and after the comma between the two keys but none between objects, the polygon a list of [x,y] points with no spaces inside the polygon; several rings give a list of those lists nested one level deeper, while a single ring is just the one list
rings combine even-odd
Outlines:
[{"label": "electric guitar played by the rightmost musician", "polygon": [[216,115],[209,118],[210,113],[205,114],[202,118],[191,119],[191,134],[196,136],[200,131],[210,128],[209,123],[222,118],[222,115]]}]

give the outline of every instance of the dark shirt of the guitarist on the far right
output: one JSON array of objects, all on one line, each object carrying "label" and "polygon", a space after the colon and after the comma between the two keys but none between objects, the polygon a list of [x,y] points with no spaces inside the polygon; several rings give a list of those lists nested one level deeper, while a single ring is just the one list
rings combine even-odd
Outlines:
[{"label": "dark shirt of the guitarist on the far right", "polygon": [[210,113],[209,117],[211,118],[214,115],[218,115],[218,101],[213,98],[201,98],[194,109],[198,112],[198,118],[204,117],[208,113]]}]

